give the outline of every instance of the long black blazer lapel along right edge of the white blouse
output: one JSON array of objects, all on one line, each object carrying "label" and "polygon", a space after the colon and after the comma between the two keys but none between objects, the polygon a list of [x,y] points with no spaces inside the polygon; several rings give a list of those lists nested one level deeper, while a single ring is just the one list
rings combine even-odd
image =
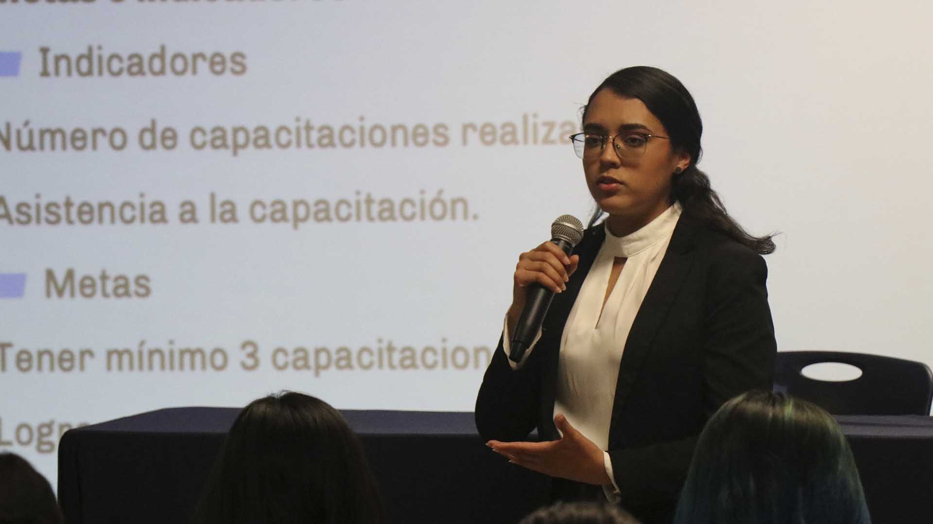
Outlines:
[{"label": "long black blazer lapel along right edge of the white blouse", "polygon": [[638,369],[651,348],[651,342],[661,328],[668,310],[677,296],[677,291],[684,283],[693,264],[694,231],[697,224],[686,214],[680,216],[667,253],[661,260],[658,272],[648,287],[648,293],[635,314],[632,329],[625,341],[625,351],[619,365],[619,379],[616,381],[616,396],[612,406],[612,420],[609,424],[609,442],[613,441],[613,432],[620,428],[619,417],[625,401],[632,391]]}]

